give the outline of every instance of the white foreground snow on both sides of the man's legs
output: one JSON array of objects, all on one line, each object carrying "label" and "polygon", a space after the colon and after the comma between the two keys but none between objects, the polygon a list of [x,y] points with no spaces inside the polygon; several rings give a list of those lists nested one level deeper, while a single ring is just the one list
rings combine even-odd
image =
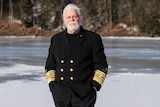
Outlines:
[{"label": "white foreground snow on both sides of the man's legs", "polygon": [[[159,107],[160,74],[109,73],[95,107]],[[1,107],[55,107],[45,77],[0,84]]]}]

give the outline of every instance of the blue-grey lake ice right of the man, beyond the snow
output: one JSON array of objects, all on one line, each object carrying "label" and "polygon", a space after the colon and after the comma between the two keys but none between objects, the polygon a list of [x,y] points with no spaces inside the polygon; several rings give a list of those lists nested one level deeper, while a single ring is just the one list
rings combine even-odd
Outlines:
[{"label": "blue-grey lake ice right of the man, beyond the snow", "polygon": [[110,72],[160,73],[160,39],[104,38]]}]

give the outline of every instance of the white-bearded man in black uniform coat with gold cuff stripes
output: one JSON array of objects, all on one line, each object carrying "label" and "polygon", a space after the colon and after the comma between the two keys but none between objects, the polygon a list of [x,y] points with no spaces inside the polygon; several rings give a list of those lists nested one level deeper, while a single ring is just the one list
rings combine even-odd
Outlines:
[{"label": "white-bearded man in black uniform coat with gold cuff stripes", "polygon": [[56,107],[94,107],[107,74],[101,37],[81,26],[80,9],[63,10],[65,30],[51,38],[46,79]]}]

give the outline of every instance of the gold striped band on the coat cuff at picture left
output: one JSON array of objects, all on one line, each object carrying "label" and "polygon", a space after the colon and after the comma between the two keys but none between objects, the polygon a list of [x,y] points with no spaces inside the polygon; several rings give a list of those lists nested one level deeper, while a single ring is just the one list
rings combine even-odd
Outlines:
[{"label": "gold striped band on the coat cuff at picture left", "polygon": [[56,80],[55,72],[56,72],[55,70],[49,70],[49,71],[46,73],[46,79],[47,79],[48,84],[49,84],[51,81],[55,81],[55,80]]}]

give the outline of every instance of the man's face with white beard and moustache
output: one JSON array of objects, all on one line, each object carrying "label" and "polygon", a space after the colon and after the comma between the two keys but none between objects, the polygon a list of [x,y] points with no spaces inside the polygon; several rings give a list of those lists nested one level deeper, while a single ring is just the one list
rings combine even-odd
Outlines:
[{"label": "man's face with white beard and moustache", "polygon": [[75,9],[66,10],[64,16],[64,23],[67,27],[67,31],[75,33],[80,28],[80,19]]}]

